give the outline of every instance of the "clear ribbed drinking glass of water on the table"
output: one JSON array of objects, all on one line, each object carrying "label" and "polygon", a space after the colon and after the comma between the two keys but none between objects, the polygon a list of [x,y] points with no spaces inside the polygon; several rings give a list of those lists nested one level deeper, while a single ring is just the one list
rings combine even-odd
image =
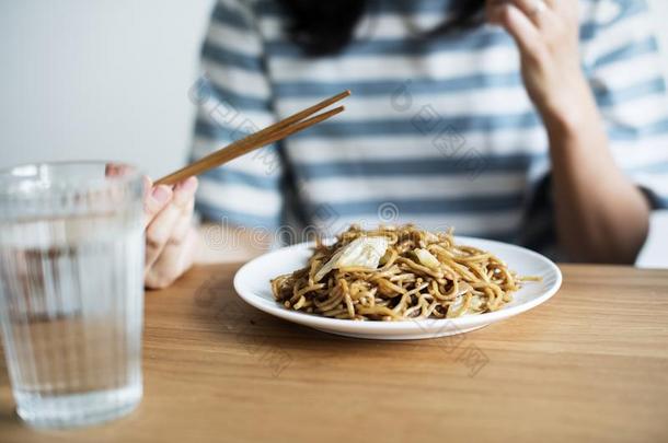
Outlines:
[{"label": "clear ribbed drinking glass of water on the table", "polygon": [[0,172],[0,323],[16,411],[37,427],[140,401],[142,180],[104,163]]}]

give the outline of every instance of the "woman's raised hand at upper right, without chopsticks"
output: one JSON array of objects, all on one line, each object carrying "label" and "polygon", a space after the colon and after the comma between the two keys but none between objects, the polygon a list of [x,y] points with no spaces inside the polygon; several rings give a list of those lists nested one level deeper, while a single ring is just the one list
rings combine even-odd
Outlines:
[{"label": "woman's raised hand at upper right, without chopsticks", "polygon": [[529,96],[545,119],[576,121],[591,95],[580,68],[577,0],[487,0],[487,21],[515,39]]}]

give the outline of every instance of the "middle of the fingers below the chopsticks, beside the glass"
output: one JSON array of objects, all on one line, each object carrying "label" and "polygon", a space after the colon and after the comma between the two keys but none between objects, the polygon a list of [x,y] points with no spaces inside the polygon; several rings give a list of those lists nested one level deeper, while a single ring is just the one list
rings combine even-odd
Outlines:
[{"label": "middle of the fingers below the chopsticks, beside the glass", "polygon": [[[180,219],[189,221],[197,179],[191,177],[174,187],[172,199],[146,230],[146,269],[150,269],[168,248],[168,243],[178,243],[183,234],[177,231]],[[181,222],[183,223],[183,222]],[[186,225],[187,226],[187,225]],[[175,232],[176,230],[176,232]],[[181,231],[187,231],[181,228]]]}]

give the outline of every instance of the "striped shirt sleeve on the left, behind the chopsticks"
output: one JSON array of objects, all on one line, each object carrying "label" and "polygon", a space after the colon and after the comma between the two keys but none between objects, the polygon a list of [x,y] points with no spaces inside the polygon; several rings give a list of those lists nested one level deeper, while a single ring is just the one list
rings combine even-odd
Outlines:
[{"label": "striped shirt sleeve on the left, behind the chopsticks", "polygon": [[[263,44],[246,2],[219,0],[201,50],[203,74],[191,90],[197,104],[192,160],[275,123]],[[277,145],[239,158],[200,177],[204,219],[276,229],[284,201]]]}]

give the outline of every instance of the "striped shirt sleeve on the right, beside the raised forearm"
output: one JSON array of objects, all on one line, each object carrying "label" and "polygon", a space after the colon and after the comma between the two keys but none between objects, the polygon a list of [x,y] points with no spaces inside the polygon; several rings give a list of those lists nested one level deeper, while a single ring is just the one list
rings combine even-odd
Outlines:
[{"label": "striped shirt sleeve on the right, beside the raised forearm", "polygon": [[644,0],[599,0],[581,30],[585,69],[618,164],[668,207],[668,95]]}]

